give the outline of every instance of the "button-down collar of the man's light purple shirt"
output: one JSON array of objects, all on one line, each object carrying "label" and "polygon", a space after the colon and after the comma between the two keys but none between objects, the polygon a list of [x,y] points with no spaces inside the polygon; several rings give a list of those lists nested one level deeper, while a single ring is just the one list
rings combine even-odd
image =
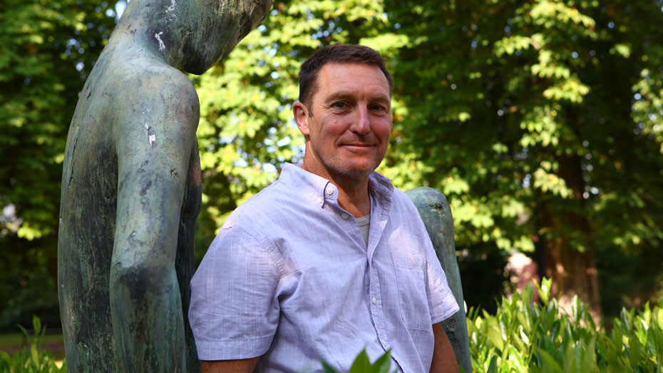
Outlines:
[{"label": "button-down collar of the man's light purple shirt", "polygon": [[[304,170],[301,168],[301,164],[285,163],[279,175],[279,181],[287,183],[295,188],[294,190],[301,190],[302,195],[307,195],[321,207],[325,200],[334,203],[338,201],[339,191],[336,186],[326,178]],[[391,185],[388,178],[373,171],[369,175],[369,191],[376,193],[380,199],[390,199],[391,194],[394,193],[394,186]]]}]

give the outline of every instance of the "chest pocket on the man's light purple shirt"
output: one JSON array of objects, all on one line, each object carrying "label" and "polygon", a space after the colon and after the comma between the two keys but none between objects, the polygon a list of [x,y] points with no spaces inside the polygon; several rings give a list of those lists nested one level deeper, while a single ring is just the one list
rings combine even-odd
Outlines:
[{"label": "chest pocket on the man's light purple shirt", "polygon": [[423,257],[391,252],[398,284],[401,318],[408,329],[431,329],[431,312],[426,296],[426,262]]}]

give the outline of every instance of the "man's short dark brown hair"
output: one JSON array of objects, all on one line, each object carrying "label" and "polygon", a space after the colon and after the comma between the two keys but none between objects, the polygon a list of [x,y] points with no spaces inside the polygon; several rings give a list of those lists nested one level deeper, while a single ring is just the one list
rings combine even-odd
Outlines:
[{"label": "man's short dark brown hair", "polygon": [[306,105],[309,111],[313,93],[317,90],[318,73],[325,63],[364,63],[377,66],[389,83],[389,96],[391,96],[394,78],[391,78],[391,74],[387,71],[380,53],[368,46],[336,43],[314,53],[299,69],[299,102]]}]

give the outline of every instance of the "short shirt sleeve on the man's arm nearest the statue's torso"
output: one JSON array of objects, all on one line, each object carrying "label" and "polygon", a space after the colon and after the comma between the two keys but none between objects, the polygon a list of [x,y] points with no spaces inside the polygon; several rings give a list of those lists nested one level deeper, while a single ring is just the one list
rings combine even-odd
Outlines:
[{"label": "short shirt sleeve on the man's arm nearest the statue's torso", "polygon": [[272,252],[255,235],[221,229],[191,280],[189,320],[201,360],[267,352],[279,322],[279,278]]}]

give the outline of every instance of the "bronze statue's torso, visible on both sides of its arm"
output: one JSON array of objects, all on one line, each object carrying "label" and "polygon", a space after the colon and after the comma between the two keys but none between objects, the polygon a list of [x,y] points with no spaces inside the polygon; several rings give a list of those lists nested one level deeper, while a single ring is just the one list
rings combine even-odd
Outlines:
[{"label": "bronze statue's torso, visible on both sides of its arm", "polygon": [[[98,65],[104,61],[100,58]],[[118,154],[123,131],[118,82],[96,66],[76,107],[63,165],[58,234],[58,297],[68,367],[113,371],[109,279],[118,202]],[[194,138],[195,140],[195,138]],[[180,209],[175,267],[188,307],[188,280],[195,270],[194,226],[200,211],[200,158],[192,144]],[[188,327],[188,325],[187,325]],[[106,368],[104,368],[106,367]]]}]

